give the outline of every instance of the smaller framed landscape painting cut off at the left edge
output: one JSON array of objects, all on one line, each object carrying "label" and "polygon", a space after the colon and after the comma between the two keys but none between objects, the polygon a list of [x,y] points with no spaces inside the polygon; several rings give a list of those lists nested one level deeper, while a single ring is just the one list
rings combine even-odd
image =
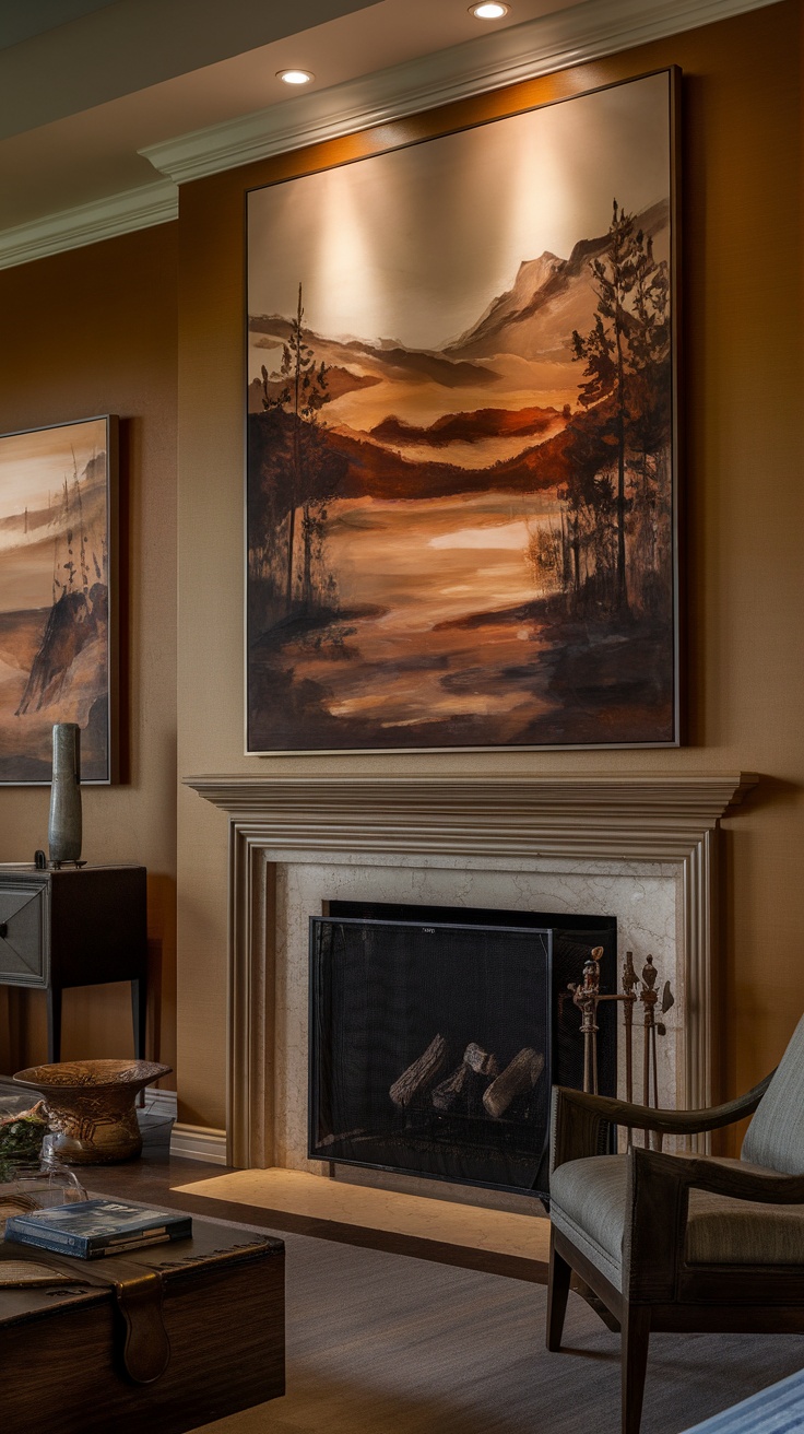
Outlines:
[{"label": "smaller framed landscape painting cut off at the left edge", "polygon": [[118,419],[0,436],[0,783],[49,783],[80,727],[82,782],[118,774]]}]

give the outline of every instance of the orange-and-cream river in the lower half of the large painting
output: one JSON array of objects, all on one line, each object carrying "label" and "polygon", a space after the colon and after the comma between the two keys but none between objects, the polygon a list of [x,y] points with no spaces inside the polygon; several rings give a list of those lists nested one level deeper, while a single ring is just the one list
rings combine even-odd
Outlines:
[{"label": "orange-and-cream river in the lower half of the large painting", "polygon": [[[509,614],[535,597],[526,554],[550,521],[540,506],[516,493],[335,503],[328,549],[341,605],[354,614],[335,634],[347,630],[351,655],[340,660],[337,642],[301,641],[297,680],[321,684],[332,716],[380,730],[493,716],[513,740],[533,704],[539,632]],[[473,625],[477,614],[487,614],[483,627]]]}]

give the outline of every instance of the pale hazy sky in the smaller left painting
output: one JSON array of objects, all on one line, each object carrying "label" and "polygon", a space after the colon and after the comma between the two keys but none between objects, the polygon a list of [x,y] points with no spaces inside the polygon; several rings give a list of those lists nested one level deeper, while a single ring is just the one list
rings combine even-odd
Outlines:
[{"label": "pale hazy sky in the smaller left painting", "polygon": [[47,508],[49,493],[73,476],[73,453],[80,476],[105,449],[105,419],[0,437],[0,519]]}]

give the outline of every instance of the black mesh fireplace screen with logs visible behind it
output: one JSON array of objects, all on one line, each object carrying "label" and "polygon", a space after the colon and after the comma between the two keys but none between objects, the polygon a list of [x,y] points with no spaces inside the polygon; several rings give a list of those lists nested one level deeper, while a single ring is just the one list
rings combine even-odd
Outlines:
[{"label": "black mesh fireplace screen with logs visible behind it", "polygon": [[[613,977],[613,918],[357,909],[310,922],[311,1159],[546,1195],[550,1087],[582,1080],[568,982],[593,945]],[[616,1021],[600,1012],[613,1093]]]}]

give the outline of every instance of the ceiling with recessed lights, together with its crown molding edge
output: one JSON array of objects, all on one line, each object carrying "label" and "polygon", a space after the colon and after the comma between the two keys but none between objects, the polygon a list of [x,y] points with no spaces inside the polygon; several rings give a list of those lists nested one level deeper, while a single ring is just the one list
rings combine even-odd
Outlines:
[{"label": "ceiling with recessed lights, together with its crown molding edge", "polygon": [[[510,0],[479,22],[467,0],[0,0],[0,264],[161,222],[176,178],[358,128],[383,95],[410,112],[767,3]],[[288,66],[314,85],[288,92]]]}]

